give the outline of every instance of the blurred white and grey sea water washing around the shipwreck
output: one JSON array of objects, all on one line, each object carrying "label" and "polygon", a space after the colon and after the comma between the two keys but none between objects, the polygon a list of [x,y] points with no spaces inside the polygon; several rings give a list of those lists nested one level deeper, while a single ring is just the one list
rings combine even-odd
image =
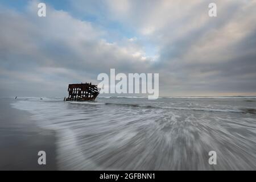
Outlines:
[{"label": "blurred white and grey sea water washing around the shipwreck", "polygon": [[59,169],[256,170],[256,97],[18,98],[11,105],[56,131]]}]

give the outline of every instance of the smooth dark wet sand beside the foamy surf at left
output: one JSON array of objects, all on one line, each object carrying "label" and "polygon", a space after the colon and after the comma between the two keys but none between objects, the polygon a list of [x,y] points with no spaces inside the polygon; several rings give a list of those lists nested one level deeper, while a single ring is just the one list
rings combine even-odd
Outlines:
[{"label": "smooth dark wet sand beside the foamy surf at left", "polygon": [[[41,129],[26,111],[0,98],[0,170],[56,170],[56,137]],[[46,165],[38,164],[38,152],[46,151]]]}]

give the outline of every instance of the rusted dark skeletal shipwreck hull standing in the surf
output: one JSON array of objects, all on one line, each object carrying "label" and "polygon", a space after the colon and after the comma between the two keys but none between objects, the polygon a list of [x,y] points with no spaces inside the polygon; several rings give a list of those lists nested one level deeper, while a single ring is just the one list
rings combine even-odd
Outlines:
[{"label": "rusted dark skeletal shipwreck hull standing in the surf", "polygon": [[69,84],[68,93],[68,98],[64,98],[64,101],[94,101],[100,90],[92,83]]}]

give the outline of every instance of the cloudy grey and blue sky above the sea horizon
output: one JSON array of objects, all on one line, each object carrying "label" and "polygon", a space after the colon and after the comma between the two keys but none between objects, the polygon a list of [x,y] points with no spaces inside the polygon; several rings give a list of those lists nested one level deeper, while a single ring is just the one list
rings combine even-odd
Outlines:
[{"label": "cloudy grey and blue sky above the sea horizon", "polygon": [[65,96],[110,68],[159,73],[161,96],[256,96],[255,10],[254,0],[0,0],[0,96]]}]

